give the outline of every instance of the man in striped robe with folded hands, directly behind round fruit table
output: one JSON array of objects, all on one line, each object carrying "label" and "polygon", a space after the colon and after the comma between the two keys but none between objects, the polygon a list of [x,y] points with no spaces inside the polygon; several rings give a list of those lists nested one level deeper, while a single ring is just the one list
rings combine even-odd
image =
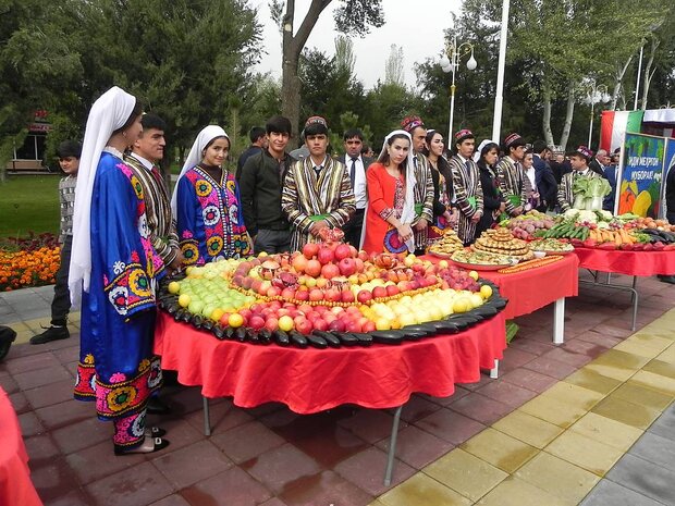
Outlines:
[{"label": "man in striped robe with folded hands, directly behind round fruit table", "polygon": [[304,132],[309,156],[291,165],[281,195],[281,208],[292,225],[291,251],[320,242],[321,230],[342,227],[356,209],[348,171],[327,155],[326,120],[309,118]]}]

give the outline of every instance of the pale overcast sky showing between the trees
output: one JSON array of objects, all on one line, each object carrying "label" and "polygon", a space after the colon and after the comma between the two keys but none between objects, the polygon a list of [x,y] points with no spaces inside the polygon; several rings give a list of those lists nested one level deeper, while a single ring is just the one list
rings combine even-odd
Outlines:
[{"label": "pale overcast sky showing between the trees", "polygon": [[[310,0],[296,0],[294,28],[299,27],[305,17]],[[340,2],[334,0],[319,17],[306,48],[317,48],[329,55],[335,52],[334,39],[338,33],[333,24],[333,10]],[[258,18],[263,26],[262,60],[259,72],[271,72],[281,76],[281,35],[270,18],[268,0],[250,0],[258,9]],[[392,44],[403,48],[405,63],[405,83],[415,85],[413,65],[421,63],[429,57],[437,57],[443,49],[443,30],[452,24],[451,13],[459,13],[462,0],[382,0],[385,24],[371,29],[366,37],[355,37],[355,72],[366,88],[371,88],[378,78],[384,81],[384,61]]]}]

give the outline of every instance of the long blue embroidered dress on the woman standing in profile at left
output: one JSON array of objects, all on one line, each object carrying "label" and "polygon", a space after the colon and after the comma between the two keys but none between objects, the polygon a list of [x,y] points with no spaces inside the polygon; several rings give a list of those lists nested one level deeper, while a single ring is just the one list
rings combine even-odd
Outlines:
[{"label": "long blue embroidered dress on the woman standing in profile at left", "polygon": [[83,292],[75,398],[115,423],[116,448],[145,439],[145,407],[161,384],[152,353],[155,281],[164,266],[149,239],[143,185],[103,152],[91,195],[91,277]]}]

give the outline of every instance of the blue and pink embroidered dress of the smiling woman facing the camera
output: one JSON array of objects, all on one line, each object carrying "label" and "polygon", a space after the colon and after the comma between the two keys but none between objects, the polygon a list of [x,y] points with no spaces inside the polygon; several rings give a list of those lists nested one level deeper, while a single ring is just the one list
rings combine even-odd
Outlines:
[{"label": "blue and pink embroidered dress of the smiling woman facing the camera", "polygon": [[234,174],[222,171],[216,181],[196,165],[181,177],[176,192],[177,233],[185,264],[202,266],[251,252]]}]

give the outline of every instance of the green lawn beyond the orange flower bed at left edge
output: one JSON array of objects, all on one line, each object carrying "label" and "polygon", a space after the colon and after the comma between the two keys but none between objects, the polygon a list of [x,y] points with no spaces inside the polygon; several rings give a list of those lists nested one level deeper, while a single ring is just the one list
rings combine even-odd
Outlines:
[{"label": "green lawn beyond the orange flower bed at left edge", "polygon": [[0,238],[59,234],[59,180],[54,175],[11,175],[0,183]]}]

